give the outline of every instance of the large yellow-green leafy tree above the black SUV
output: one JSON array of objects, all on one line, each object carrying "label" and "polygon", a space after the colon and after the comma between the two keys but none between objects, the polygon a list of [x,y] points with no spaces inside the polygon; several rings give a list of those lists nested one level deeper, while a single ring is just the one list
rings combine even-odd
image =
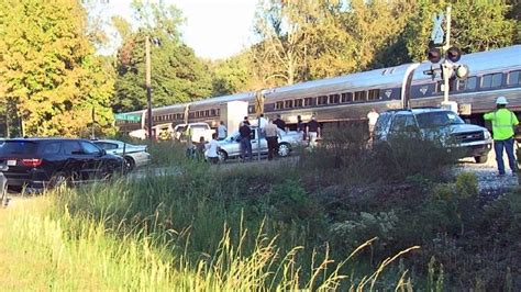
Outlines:
[{"label": "large yellow-green leafy tree above the black SUV", "polygon": [[113,74],[95,56],[84,8],[74,0],[0,4],[0,94],[23,134],[80,135],[92,110],[98,130],[111,131]]}]

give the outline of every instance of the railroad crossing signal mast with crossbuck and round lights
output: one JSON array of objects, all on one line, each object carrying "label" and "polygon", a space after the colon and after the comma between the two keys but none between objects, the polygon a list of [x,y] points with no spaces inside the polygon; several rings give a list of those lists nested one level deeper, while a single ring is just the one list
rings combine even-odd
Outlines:
[{"label": "railroad crossing signal mast with crossbuck and round lights", "polygon": [[[445,44],[443,44],[444,32],[442,29],[444,15],[443,13],[440,13],[439,15],[433,15],[434,27],[431,35],[433,46],[428,50],[428,59],[433,65],[431,66],[430,70],[423,71],[423,74],[431,75],[432,79],[434,80],[437,72],[441,72],[441,78],[443,80],[442,108],[452,110],[457,113],[457,103],[455,101],[448,101],[450,81],[451,79],[454,80],[454,78],[466,79],[468,77],[469,69],[467,65],[458,64],[459,59],[462,58],[462,50],[456,46],[451,46],[451,11],[452,8],[447,7],[445,21]],[[445,53],[445,56],[443,56],[443,53]],[[443,61],[440,63],[443,57]]]}]

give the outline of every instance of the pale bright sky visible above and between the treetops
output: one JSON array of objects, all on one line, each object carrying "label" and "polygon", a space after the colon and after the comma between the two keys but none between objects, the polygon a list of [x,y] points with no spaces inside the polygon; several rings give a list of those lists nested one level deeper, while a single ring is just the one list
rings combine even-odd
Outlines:
[{"label": "pale bright sky visible above and between the treetops", "polygon": [[[146,1],[146,0],[145,0]],[[151,0],[160,1],[160,0]],[[101,0],[103,15],[120,14],[132,21],[131,0]],[[198,57],[230,57],[252,43],[252,24],[257,0],[163,0],[182,11],[180,27],[184,42]],[[118,44],[102,49],[111,54]]]}]

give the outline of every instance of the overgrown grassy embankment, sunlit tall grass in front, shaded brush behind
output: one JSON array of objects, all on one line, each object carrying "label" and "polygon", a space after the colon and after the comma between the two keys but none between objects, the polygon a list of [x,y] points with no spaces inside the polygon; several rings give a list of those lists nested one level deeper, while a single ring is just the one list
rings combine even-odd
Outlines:
[{"label": "overgrown grassy embankment, sunlit tall grass in front, shaded brush behind", "polygon": [[[519,193],[483,198],[474,176],[452,178],[453,159],[435,145],[368,151],[358,137],[331,136],[298,161],[232,167],[155,145],[156,162],[175,165],[176,175],[37,198],[36,210],[3,214],[12,215],[2,221],[2,246],[33,259],[7,279],[31,289],[520,285]],[[33,265],[43,274],[23,277]]]}]

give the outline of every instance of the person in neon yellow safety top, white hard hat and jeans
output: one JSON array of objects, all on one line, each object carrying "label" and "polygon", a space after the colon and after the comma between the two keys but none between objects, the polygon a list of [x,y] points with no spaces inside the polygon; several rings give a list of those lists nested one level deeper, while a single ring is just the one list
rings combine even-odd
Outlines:
[{"label": "person in neon yellow safety top, white hard hat and jeans", "polygon": [[498,162],[499,176],[505,176],[503,148],[512,175],[518,172],[518,162],[513,155],[513,128],[519,125],[516,114],[507,109],[508,101],[505,97],[496,100],[496,111],[486,113],[483,117],[492,122],[494,150]]}]

